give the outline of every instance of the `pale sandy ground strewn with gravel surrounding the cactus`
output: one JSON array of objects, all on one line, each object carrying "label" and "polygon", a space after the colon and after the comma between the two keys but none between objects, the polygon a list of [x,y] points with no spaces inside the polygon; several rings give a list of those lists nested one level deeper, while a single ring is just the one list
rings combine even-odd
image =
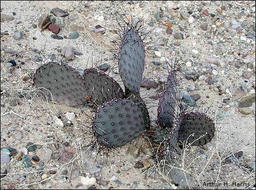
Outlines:
[{"label": "pale sandy ground strewn with gravel surrounding the cactus", "polygon": [[[53,15],[56,7],[62,16]],[[41,31],[42,14],[52,15],[54,30]],[[187,179],[179,169],[167,176],[148,169],[153,160],[144,135],[109,152],[107,159],[102,154],[96,159],[97,150],[87,146],[93,140],[93,109],[48,103],[31,88],[35,69],[52,58],[64,60],[65,46],[73,47],[65,61],[75,68],[92,62],[114,66],[109,49],[118,38],[112,31],[118,27],[115,14],[133,21],[143,17],[143,30],[149,32],[143,77],[152,81],[140,91],[152,123],[158,103],[152,96],[161,92],[168,75],[165,58],[177,56],[184,64],[179,98],[210,107],[215,138],[203,147],[180,149],[176,158]],[[110,76],[123,87],[114,73]],[[1,1],[2,189],[219,186],[255,189],[254,1]]]}]

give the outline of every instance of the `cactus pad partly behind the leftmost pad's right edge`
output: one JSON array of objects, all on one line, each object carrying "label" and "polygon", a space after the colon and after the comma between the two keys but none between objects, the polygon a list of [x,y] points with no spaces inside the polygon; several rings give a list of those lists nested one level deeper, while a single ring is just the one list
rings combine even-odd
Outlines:
[{"label": "cactus pad partly behind the leftmost pad's right edge", "polygon": [[85,69],[84,84],[91,100],[102,104],[115,98],[123,98],[121,86],[112,78],[96,68]]}]

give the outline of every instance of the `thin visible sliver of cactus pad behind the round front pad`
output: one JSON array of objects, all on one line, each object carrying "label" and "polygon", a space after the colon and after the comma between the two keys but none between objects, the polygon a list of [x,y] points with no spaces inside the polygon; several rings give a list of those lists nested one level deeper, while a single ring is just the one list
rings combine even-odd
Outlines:
[{"label": "thin visible sliver of cactus pad behind the round front pad", "polygon": [[128,97],[128,99],[131,99],[135,104],[138,105],[138,107],[140,108],[140,111],[142,112],[142,115],[143,115],[145,129],[149,129],[150,128],[150,117],[149,117],[147,106],[144,103],[143,99],[140,97],[139,94],[131,94]]}]

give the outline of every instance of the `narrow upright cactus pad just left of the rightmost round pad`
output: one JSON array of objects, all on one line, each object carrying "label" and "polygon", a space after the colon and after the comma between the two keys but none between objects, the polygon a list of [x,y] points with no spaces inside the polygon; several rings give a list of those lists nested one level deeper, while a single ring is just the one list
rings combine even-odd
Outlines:
[{"label": "narrow upright cactus pad just left of the rightmost round pad", "polygon": [[172,128],[176,104],[176,72],[171,71],[161,92],[157,109],[157,123],[161,128]]}]

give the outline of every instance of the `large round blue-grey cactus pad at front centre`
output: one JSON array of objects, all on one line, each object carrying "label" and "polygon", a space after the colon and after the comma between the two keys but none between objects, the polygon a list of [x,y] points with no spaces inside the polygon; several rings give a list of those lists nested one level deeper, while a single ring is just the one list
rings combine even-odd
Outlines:
[{"label": "large round blue-grey cactus pad at front centre", "polygon": [[143,131],[138,105],[129,99],[114,99],[101,105],[92,120],[92,131],[99,144],[120,147]]}]

